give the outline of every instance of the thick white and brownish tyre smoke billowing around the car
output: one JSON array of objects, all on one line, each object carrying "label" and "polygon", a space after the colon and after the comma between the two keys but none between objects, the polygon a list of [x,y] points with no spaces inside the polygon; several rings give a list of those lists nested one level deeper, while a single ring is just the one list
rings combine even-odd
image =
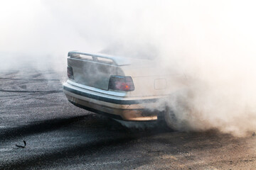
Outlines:
[{"label": "thick white and brownish tyre smoke billowing around the car", "polygon": [[151,44],[166,72],[176,69],[188,78],[186,92],[167,101],[186,128],[244,135],[256,128],[255,5],[255,1],[2,1],[1,67],[26,65],[65,72],[70,50],[97,52],[116,42],[138,49]]}]

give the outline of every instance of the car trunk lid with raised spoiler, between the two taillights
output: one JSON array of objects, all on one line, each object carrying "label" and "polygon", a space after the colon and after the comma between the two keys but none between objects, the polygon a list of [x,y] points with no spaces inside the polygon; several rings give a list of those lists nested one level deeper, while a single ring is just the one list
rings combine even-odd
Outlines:
[{"label": "car trunk lid with raised spoiler, between the two taillights", "polygon": [[108,90],[111,75],[122,72],[119,66],[130,64],[129,59],[110,55],[69,52],[68,67],[73,69],[73,81],[97,89]]}]

